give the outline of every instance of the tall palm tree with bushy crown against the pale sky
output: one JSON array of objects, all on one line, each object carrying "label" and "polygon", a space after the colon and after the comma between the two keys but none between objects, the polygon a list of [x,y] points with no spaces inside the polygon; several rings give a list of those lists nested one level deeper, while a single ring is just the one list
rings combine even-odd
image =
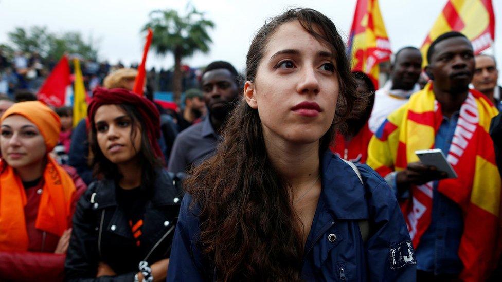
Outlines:
[{"label": "tall palm tree with bushy crown against the pale sky", "polygon": [[150,21],[143,30],[153,31],[152,46],[159,55],[174,55],[173,92],[174,101],[180,103],[182,92],[181,60],[194,52],[207,53],[212,43],[207,29],[214,23],[204,18],[204,13],[194,7],[188,7],[186,16],[180,16],[175,10],[155,10],[150,12]]}]

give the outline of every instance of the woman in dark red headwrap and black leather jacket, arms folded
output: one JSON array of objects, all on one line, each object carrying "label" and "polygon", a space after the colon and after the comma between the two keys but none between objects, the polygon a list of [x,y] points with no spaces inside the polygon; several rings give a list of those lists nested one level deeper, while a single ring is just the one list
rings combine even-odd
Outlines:
[{"label": "woman in dark red headwrap and black leather jacket, arms folded", "polygon": [[163,170],[159,112],[122,88],[94,91],[89,104],[95,177],[74,217],[67,280],[165,280],[182,198]]}]

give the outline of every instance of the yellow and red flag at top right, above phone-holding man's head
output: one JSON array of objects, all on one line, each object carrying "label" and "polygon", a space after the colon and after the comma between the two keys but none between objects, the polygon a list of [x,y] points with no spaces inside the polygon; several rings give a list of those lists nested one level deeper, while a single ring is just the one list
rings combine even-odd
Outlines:
[{"label": "yellow and red flag at top right, above phone-holding man's head", "polygon": [[448,31],[463,33],[479,54],[492,46],[495,38],[495,15],[491,0],[448,0],[439,14],[420,51],[427,65],[427,50],[431,43]]}]

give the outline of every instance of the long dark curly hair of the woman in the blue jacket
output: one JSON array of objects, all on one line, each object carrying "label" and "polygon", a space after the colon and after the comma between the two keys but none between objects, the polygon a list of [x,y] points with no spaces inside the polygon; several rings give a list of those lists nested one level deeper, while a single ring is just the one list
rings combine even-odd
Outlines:
[{"label": "long dark curly hair of the woman in the blue jacket", "polygon": [[[336,127],[365,101],[355,91],[345,44],[328,17],[296,8],[265,23],[249,47],[247,80],[255,81],[271,35],[292,21],[327,43],[336,61],[339,97],[332,125],[319,142],[324,153]],[[242,99],[227,120],[216,155],[191,173],[185,185],[193,196],[191,207],[201,207],[200,247],[218,280],[301,280],[301,221],[291,203],[289,183],[267,156],[258,110]]]}]

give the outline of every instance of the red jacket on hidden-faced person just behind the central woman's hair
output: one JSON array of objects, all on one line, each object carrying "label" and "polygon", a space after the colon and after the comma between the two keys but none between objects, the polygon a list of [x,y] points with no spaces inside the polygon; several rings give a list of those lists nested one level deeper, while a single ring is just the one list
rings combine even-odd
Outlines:
[{"label": "red jacket on hidden-faced person just behind the central woman's hair", "polygon": [[369,130],[367,122],[350,141],[345,141],[344,136],[337,132],[334,144],[330,146],[331,152],[344,160],[365,163],[368,158],[368,144],[372,136],[373,133]]}]

